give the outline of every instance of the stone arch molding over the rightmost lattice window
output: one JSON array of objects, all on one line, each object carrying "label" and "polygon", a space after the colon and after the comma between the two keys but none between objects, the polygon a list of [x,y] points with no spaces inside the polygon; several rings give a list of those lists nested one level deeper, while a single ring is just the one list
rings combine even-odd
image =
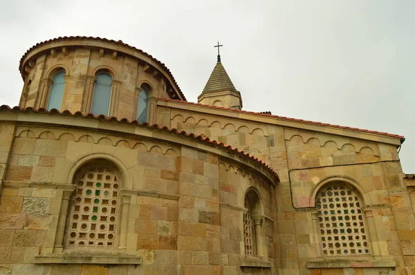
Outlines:
[{"label": "stone arch molding over the rightmost lattice window", "polygon": [[320,189],[326,186],[326,184],[331,184],[333,182],[343,182],[344,184],[349,185],[349,187],[355,189],[358,193],[358,196],[360,196],[362,199],[363,207],[370,207],[372,205],[367,191],[363,189],[363,187],[360,186],[356,180],[349,177],[332,176],[320,181],[317,185],[315,185],[314,189],[311,190],[309,207],[315,207],[315,198]]}]

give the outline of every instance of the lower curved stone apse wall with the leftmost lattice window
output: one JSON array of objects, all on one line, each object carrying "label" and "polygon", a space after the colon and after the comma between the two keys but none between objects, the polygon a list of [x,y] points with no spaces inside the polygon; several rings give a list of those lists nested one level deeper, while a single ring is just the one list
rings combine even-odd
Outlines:
[{"label": "lower curved stone apse wall with the leftmost lattice window", "polygon": [[275,182],[256,162],[145,127],[20,118],[0,123],[0,274],[275,272],[240,267],[247,189],[275,256]]}]

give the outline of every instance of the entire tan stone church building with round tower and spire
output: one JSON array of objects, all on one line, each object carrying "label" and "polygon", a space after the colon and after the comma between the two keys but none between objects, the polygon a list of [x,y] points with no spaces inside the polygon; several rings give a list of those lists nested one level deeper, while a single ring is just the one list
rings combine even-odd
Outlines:
[{"label": "entire tan stone church building with round tower and spire", "polygon": [[415,274],[403,136],[245,111],[220,55],[197,103],[122,41],[43,41],[19,71],[0,274]]}]

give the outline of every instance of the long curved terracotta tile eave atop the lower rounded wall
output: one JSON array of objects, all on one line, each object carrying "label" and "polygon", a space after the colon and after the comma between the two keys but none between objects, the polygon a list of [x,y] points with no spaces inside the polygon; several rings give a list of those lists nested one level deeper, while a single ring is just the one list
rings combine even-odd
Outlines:
[{"label": "long curved terracotta tile eave atop the lower rounded wall", "polygon": [[104,120],[107,122],[117,122],[117,123],[123,123],[123,124],[128,124],[128,125],[133,125],[133,126],[138,126],[138,127],[142,127],[142,128],[147,128],[147,129],[151,129],[151,130],[156,130],[156,131],[163,131],[166,133],[173,133],[175,135],[181,136],[183,138],[189,138],[191,140],[196,140],[198,142],[201,142],[203,144],[207,144],[209,146],[214,146],[216,148],[219,149],[223,149],[225,151],[228,151],[230,153],[234,153],[235,155],[239,155],[240,158],[243,158],[245,160],[250,160],[252,162],[257,162],[257,164],[259,164],[261,167],[263,167],[264,169],[268,170],[270,173],[273,174],[274,180],[276,182],[279,182],[279,177],[277,175],[277,173],[268,166],[268,164],[266,164],[265,162],[262,162],[261,160],[259,160],[258,158],[255,158],[254,156],[245,153],[244,151],[240,151],[236,148],[232,148],[232,146],[224,144],[223,142],[217,142],[216,140],[211,140],[210,138],[205,138],[203,135],[194,135],[194,133],[186,133],[185,131],[178,131],[177,129],[169,129],[166,126],[160,127],[157,124],[153,124],[150,125],[147,122],[140,124],[137,120],[133,120],[132,122],[130,122],[129,120],[127,120],[127,118],[122,118],[121,120],[118,120],[116,117],[106,117],[105,115],[93,115],[92,113],[88,113],[88,114],[83,114],[80,111],[76,112],[76,113],[71,113],[70,111],[58,111],[57,109],[52,109],[50,111],[46,110],[45,108],[39,108],[39,109],[35,109],[32,107],[27,107],[27,108],[21,108],[19,106],[15,106],[13,108],[10,108],[10,106],[7,105],[1,105],[0,106],[0,112],[4,112],[4,111],[8,111],[8,112],[20,112],[20,113],[43,113],[43,114],[48,114],[48,115],[63,115],[63,116],[68,116],[68,117],[82,117],[82,118],[91,118],[94,120]]}]

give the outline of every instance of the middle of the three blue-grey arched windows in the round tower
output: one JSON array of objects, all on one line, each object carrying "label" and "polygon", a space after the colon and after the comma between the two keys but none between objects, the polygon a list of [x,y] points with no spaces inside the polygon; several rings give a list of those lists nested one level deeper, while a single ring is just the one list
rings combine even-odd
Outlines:
[{"label": "middle of the three blue-grey arched windows in the round tower", "polygon": [[93,91],[91,113],[94,115],[109,115],[111,101],[112,77],[109,73],[99,73]]}]

